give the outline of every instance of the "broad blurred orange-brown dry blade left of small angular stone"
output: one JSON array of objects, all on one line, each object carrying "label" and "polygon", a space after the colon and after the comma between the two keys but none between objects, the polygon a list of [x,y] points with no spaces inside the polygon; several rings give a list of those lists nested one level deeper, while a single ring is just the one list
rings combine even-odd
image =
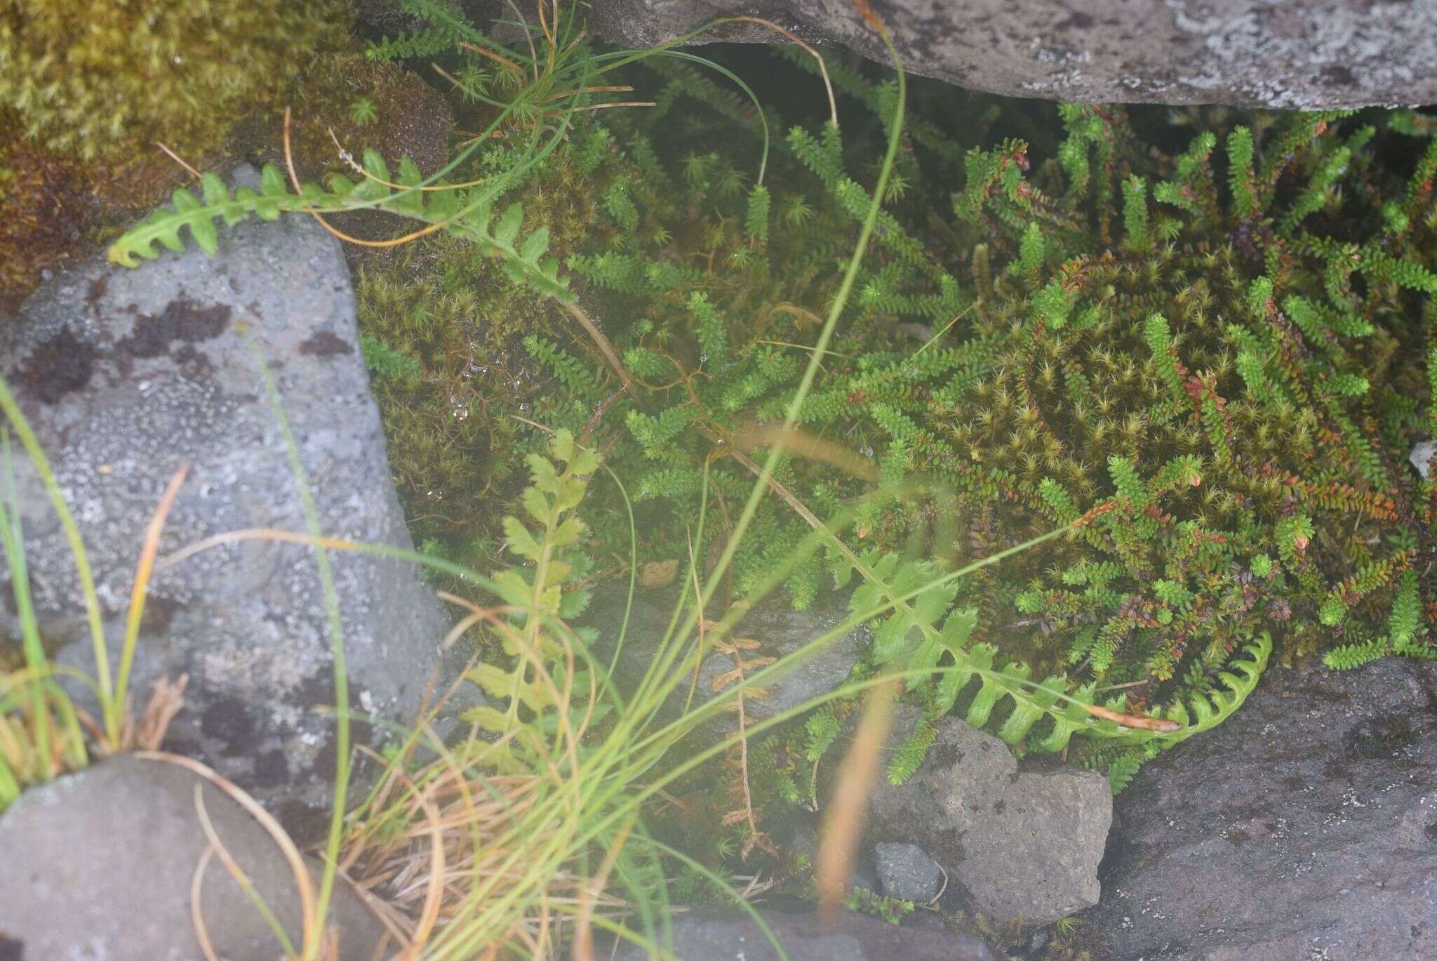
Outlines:
[{"label": "broad blurred orange-brown dry blade left of small angular stone", "polygon": [[844,906],[848,867],[864,834],[868,800],[878,775],[878,761],[888,744],[892,724],[895,682],[879,683],[868,695],[864,715],[854,731],[854,745],[844,755],[835,775],[833,797],[823,811],[813,879],[818,885],[819,914],[833,921]]}]

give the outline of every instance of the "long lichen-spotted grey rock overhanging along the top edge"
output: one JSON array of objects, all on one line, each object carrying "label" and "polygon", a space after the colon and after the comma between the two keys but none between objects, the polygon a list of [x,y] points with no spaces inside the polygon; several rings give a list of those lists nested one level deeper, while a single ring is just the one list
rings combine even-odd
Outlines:
[{"label": "long lichen-spotted grey rock overhanging along the top edge", "polygon": [[[1062,101],[1315,109],[1437,101],[1437,3],[1413,0],[874,0],[904,66]],[[724,16],[888,62],[852,0],[593,0],[609,40],[652,46]],[[706,39],[773,42],[756,24]]]}]

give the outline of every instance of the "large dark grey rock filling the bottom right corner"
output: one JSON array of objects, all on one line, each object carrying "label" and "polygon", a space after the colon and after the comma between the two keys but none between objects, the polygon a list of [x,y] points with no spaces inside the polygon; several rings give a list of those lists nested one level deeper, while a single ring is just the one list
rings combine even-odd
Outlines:
[{"label": "large dark grey rock filling the bottom right corner", "polygon": [[1437,958],[1437,663],[1269,668],[1117,803],[1094,957]]}]

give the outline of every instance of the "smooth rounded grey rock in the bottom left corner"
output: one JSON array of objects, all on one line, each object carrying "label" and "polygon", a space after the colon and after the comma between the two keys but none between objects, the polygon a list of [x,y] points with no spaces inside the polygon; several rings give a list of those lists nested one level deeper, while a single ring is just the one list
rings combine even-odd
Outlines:
[{"label": "smooth rounded grey rock in the bottom left corner", "polygon": [[[0,816],[0,945],[24,961],[195,961],[191,880],[208,847],[195,810],[302,944],[299,886],[269,833],[224,791],[167,761],[118,757],[32,788]],[[316,882],[319,865],[309,859]],[[343,961],[368,961],[382,924],[342,878],[329,924]],[[220,863],[200,916],[220,957],[273,961],[279,939]],[[395,947],[389,945],[391,949]],[[0,951],[3,954],[3,951]]]}]

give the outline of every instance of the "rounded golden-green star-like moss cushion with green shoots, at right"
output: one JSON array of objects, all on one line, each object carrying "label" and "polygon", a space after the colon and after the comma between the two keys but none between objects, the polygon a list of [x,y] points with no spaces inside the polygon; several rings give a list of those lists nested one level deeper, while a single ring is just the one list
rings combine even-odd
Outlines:
[{"label": "rounded golden-green star-like moss cushion with green shoots, at right", "polygon": [[1032,291],[999,279],[977,334],[1004,345],[920,416],[918,469],[957,485],[976,554],[1118,502],[983,583],[1004,653],[1122,683],[1220,663],[1265,623],[1312,647],[1325,586],[1387,554],[1395,504],[1339,424],[1362,417],[1332,390],[1342,365],[1255,364],[1280,348],[1234,324],[1252,272],[1232,247],[1106,255],[1068,273],[1085,306],[1062,327],[1026,322]]}]

